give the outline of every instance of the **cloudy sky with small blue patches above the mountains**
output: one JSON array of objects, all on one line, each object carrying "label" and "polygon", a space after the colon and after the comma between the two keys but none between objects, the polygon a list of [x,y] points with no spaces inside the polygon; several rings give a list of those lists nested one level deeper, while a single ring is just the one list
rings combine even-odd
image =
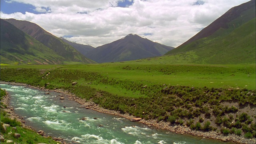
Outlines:
[{"label": "cloudy sky with small blue patches above the mountains", "polygon": [[177,47],[249,0],[1,0],[0,17],[34,22],[70,41],[101,46],[127,34]]}]

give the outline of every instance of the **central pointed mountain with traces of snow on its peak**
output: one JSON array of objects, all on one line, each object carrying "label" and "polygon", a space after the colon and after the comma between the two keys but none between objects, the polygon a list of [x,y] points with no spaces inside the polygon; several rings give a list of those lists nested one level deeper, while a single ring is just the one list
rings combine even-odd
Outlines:
[{"label": "central pointed mountain with traces of snow on its peak", "polygon": [[173,47],[152,42],[137,34],[128,34],[124,38],[98,46],[86,56],[96,62],[120,62],[161,56]]}]

